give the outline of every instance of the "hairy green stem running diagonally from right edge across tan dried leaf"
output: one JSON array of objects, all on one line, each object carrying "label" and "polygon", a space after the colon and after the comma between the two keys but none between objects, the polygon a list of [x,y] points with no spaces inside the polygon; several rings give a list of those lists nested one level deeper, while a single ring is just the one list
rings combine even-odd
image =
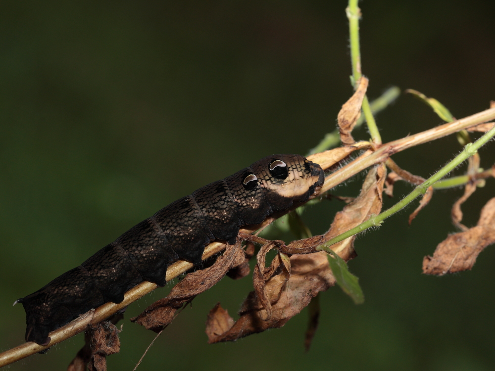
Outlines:
[{"label": "hairy green stem running diagonally from right edge across tan dried leaf", "polygon": [[433,185],[435,182],[438,182],[439,180],[441,180],[448,173],[450,173],[457,166],[459,166],[462,162],[464,162],[469,157],[474,155],[476,153],[476,151],[483,144],[485,144],[488,140],[490,140],[493,136],[495,136],[495,126],[490,131],[488,131],[483,137],[478,139],[476,142],[466,144],[464,146],[464,150],[458,156],[456,156],[452,161],[450,161],[448,164],[446,164],[446,166],[444,166],[442,169],[440,169],[432,177],[428,178],[425,182],[423,182],[422,184],[420,184],[416,188],[414,188],[414,190],[411,193],[409,193],[402,200],[397,202],[390,209],[384,211],[383,213],[381,213],[379,215],[371,216],[366,222],[363,222],[360,225],[358,225],[357,227],[354,227],[351,230],[344,232],[342,234],[339,234],[338,236],[330,239],[324,245],[319,246],[319,249],[320,250],[326,250],[325,247],[328,248],[328,246],[331,246],[334,243],[345,240],[346,238],[353,236],[354,234],[357,234],[359,232],[363,232],[363,231],[365,231],[371,227],[380,226],[385,219],[387,219],[391,215],[395,214],[397,211],[403,209],[407,204],[409,204],[414,199],[416,199],[416,197],[424,194],[430,185]]}]

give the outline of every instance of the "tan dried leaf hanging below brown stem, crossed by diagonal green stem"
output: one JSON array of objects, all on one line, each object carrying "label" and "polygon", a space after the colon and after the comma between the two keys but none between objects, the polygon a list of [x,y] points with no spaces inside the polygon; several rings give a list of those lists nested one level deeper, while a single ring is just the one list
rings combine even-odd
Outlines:
[{"label": "tan dried leaf hanging below brown stem, crossed by diagonal green stem", "polygon": [[[346,205],[342,211],[339,211],[324,236],[328,239],[338,236],[341,233],[358,226],[373,215],[378,215],[382,210],[383,203],[383,185],[385,183],[387,170],[384,164],[380,164],[370,169],[359,197],[353,202]],[[356,236],[346,238],[344,241],[332,245],[332,250],[337,252],[344,260],[355,257],[354,239]]]}]

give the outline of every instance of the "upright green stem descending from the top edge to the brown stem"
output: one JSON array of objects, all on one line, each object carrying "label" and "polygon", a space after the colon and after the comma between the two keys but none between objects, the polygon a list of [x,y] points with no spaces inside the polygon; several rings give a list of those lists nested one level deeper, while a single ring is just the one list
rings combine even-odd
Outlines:
[{"label": "upright green stem descending from the top edge to the brown stem", "polygon": [[[359,49],[359,18],[361,17],[361,9],[357,6],[358,0],[349,0],[346,9],[347,18],[349,20],[349,39],[350,39],[350,59],[352,64],[352,83],[354,89],[357,86],[358,80],[361,78],[361,51]],[[362,104],[366,124],[370,132],[373,143],[382,144],[380,132],[376,126],[375,118],[371,112],[371,107],[368,102],[368,97],[365,95]]]}]

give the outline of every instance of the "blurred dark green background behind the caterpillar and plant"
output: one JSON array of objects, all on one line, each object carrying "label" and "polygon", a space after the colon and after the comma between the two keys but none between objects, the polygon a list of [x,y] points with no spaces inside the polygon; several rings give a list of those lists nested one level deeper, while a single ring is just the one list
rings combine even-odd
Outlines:
[{"label": "blurred dark green background behind the caterpillar and plant", "polygon": [[[304,154],[333,130],[349,84],[345,1],[2,1],[0,3],[0,350],[24,339],[14,300],[79,265],[169,202],[268,154]],[[495,99],[495,2],[361,3],[368,95],[417,89],[456,117]],[[411,96],[378,116],[384,141],[441,120]],[[367,139],[365,130],[356,134]],[[427,177],[458,153],[455,137],[399,153]],[[494,146],[481,151],[495,161]],[[458,169],[462,173],[464,168]],[[362,176],[335,190],[355,195]],[[476,223],[488,180],[464,206]],[[396,187],[396,198],[408,192]],[[366,301],[321,295],[321,323],[303,351],[304,310],[281,329],[208,345],[217,301],[235,315],[249,278],[225,278],[195,299],[140,370],[493,370],[495,251],[473,271],[421,274],[447,233],[461,189],[438,191],[407,226],[399,213],[356,241],[350,269]],[[336,201],[304,214],[314,233]],[[134,303],[127,318],[166,294]],[[109,370],[132,370],[154,333],[126,320]],[[79,335],[10,370],[63,370]]]}]

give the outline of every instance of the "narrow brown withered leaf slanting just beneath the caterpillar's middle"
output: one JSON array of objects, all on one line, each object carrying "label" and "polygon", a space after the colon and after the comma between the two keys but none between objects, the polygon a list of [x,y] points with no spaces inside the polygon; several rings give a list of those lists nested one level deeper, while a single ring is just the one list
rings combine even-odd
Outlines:
[{"label": "narrow brown withered leaf slanting just beneath the caterpillar's middle", "polygon": [[218,257],[211,267],[188,274],[180,283],[175,285],[167,297],[157,300],[138,317],[132,318],[131,321],[159,332],[164,326],[172,322],[175,312],[184,303],[191,301],[196,295],[212,287],[231,268],[243,264],[245,259],[246,256],[240,241],[235,245],[227,244],[224,255]]}]

